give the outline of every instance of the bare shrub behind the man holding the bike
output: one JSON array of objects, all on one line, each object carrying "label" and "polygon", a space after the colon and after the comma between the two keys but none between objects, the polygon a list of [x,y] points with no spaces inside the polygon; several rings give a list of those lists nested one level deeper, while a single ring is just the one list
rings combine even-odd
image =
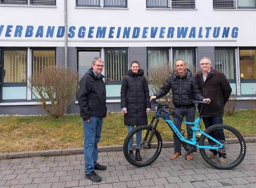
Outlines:
[{"label": "bare shrub behind the man holding the bike", "polygon": [[[186,64],[186,68],[190,70],[192,75],[196,75],[196,67],[192,64]],[[159,89],[163,86],[166,79],[170,76],[170,74],[174,73],[175,65],[169,66],[168,62],[158,63],[148,68],[148,84],[150,87],[150,95],[154,95],[154,93],[158,92]],[[172,105],[172,89],[170,89],[169,93],[165,95],[163,98],[164,103]]]}]

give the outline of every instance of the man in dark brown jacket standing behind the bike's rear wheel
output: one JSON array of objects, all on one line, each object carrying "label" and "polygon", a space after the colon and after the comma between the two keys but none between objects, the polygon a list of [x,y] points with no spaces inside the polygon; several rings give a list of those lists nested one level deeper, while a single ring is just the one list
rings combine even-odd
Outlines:
[{"label": "man in dark brown jacket standing behind the bike's rear wheel", "polygon": [[[211,103],[204,105],[203,121],[205,128],[211,125],[222,124],[222,116],[224,114],[224,106],[231,94],[231,87],[225,75],[211,67],[210,58],[203,57],[200,60],[200,67],[202,71],[196,74],[196,81],[199,89],[205,98],[210,98]],[[200,107],[199,107],[200,109]],[[223,129],[220,129],[217,135],[218,140],[225,141]],[[210,141],[209,141],[210,142]],[[219,154],[220,164],[226,164],[227,158],[225,153],[217,152],[217,150],[210,150],[209,158],[216,158]]]}]

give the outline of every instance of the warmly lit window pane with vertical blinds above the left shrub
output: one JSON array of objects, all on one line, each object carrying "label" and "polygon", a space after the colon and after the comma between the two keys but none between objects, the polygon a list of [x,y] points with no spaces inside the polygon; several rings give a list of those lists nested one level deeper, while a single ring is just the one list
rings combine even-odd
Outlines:
[{"label": "warmly lit window pane with vertical blinds above the left shrub", "polygon": [[56,65],[55,49],[32,49],[32,73]]}]

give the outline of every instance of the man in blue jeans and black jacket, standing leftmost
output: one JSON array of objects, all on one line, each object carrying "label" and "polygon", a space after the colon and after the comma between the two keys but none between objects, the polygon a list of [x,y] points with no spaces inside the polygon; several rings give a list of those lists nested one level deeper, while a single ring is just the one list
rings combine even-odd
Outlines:
[{"label": "man in blue jeans and black jacket, standing leftmost", "polygon": [[106,86],[103,81],[103,60],[96,57],[92,68],[82,77],[78,91],[78,104],[84,125],[84,163],[86,178],[93,182],[101,181],[94,170],[106,170],[98,164],[98,142],[101,137],[102,123],[106,117]]}]

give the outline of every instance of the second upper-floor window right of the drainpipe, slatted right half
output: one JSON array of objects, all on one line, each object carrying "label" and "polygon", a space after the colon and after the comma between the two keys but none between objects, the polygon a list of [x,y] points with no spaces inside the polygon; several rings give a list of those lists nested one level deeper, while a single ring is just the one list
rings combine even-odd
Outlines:
[{"label": "second upper-floor window right of the drainpipe, slatted right half", "polygon": [[147,8],[195,9],[196,0],[146,0]]}]

